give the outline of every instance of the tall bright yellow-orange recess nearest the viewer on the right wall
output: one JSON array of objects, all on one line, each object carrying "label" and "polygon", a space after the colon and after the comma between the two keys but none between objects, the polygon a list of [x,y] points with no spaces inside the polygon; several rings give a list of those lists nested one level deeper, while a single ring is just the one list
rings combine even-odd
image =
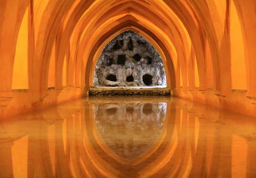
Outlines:
[{"label": "tall bright yellow-orange recess nearest the viewer on the right wall", "polygon": [[241,24],[233,1],[230,7],[231,81],[232,88],[245,90],[245,53]]}]

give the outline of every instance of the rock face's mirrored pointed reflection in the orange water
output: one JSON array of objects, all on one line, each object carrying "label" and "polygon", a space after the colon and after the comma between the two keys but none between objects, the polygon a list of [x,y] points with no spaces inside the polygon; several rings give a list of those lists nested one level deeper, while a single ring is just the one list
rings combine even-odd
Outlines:
[{"label": "rock face's mirrored pointed reflection in the orange water", "polygon": [[122,102],[94,104],[102,140],[120,157],[133,160],[160,137],[166,103]]}]

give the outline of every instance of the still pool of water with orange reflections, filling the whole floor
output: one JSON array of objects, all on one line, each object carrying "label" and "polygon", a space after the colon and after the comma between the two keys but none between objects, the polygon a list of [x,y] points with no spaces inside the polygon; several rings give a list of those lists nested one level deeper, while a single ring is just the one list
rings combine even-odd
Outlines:
[{"label": "still pool of water with orange reflections, filling the whole floor", "polygon": [[90,98],[0,121],[0,177],[256,177],[256,119],[176,98]]}]

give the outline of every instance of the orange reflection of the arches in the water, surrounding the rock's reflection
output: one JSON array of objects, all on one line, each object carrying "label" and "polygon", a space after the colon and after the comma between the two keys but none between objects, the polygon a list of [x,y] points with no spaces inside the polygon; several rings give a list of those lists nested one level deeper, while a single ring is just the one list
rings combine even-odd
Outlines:
[{"label": "orange reflection of the arches in the water, surrounding the rock's reflection", "polygon": [[[159,98],[142,100],[159,102]],[[167,115],[162,135],[151,149],[132,163],[117,157],[100,140],[92,109],[93,103],[99,102],[97,99],[92,99],[89,103],[86,99],[63,103],[50,110],[23,115],[21,118],[19,116],[16,118],[18,122],[3,121],[2,131],[5,133],[1,136],[10,137],[1,141],[4,143],[3,148],[7,146],[7,149],[2,149],[0,154],[5,155],[8,161],[15,161],[19,154],[16,154],[16,157],[11,155],[11,152],[5,154],[6,150],[15,149],[12,151],[20,153],[24,147],[13,148],[11,144],[19,138],[28,136],[24,145],[29,148],[29,161],[25,167],[28,166],[28,172],[34,175],[45,173],[50,176],[125,177],[132,168],[136,175],[144,176],[200,177],[203,174],[207,177],[216,177],[217,172],[229,176],[233,173],[232,160],[241,160],[241,154],[237,153],[236,149],[231,149],[234,145],[242,147],[243,155],[247,156],[242,158],[246,160],[246,164],[243,165],[245,169],[236,170],[242,170],[247,175],[255,175],[256,147],[253,132],[256,124],[253,117],[238,116],[185,100],[177,102],[177,99],[165,98],[163,101],[167,102]],[[107,102],[113,103],[113,99],[110,98]],[[122,102],[122,98],[114,102]],[[234,117],[239,119],[234,120]],[[31,122],[34,123],[34,127],[26,127]],[[40,140],[35,136],[41,136]],[[53,142],[54,137],[57,139]],[[238,144],[239,140],[236,137],[245,144]],[[52,159],[55,160],[53,163]],[[6,161],[8,166],[0,169],[6,171],[5,173],[12,173],[15,167],[12,167],[11,161]]]}]

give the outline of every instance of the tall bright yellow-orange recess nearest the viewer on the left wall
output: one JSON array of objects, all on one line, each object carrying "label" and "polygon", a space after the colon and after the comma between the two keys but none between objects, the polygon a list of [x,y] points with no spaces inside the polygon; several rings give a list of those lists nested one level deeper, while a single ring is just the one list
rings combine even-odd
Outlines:
[{"label": "tall bright yellow-orange recess nearest the viewer on the left wall", "polygon": [[13,65],[12,89],[28,88],[28,8],[18,32]]}]

